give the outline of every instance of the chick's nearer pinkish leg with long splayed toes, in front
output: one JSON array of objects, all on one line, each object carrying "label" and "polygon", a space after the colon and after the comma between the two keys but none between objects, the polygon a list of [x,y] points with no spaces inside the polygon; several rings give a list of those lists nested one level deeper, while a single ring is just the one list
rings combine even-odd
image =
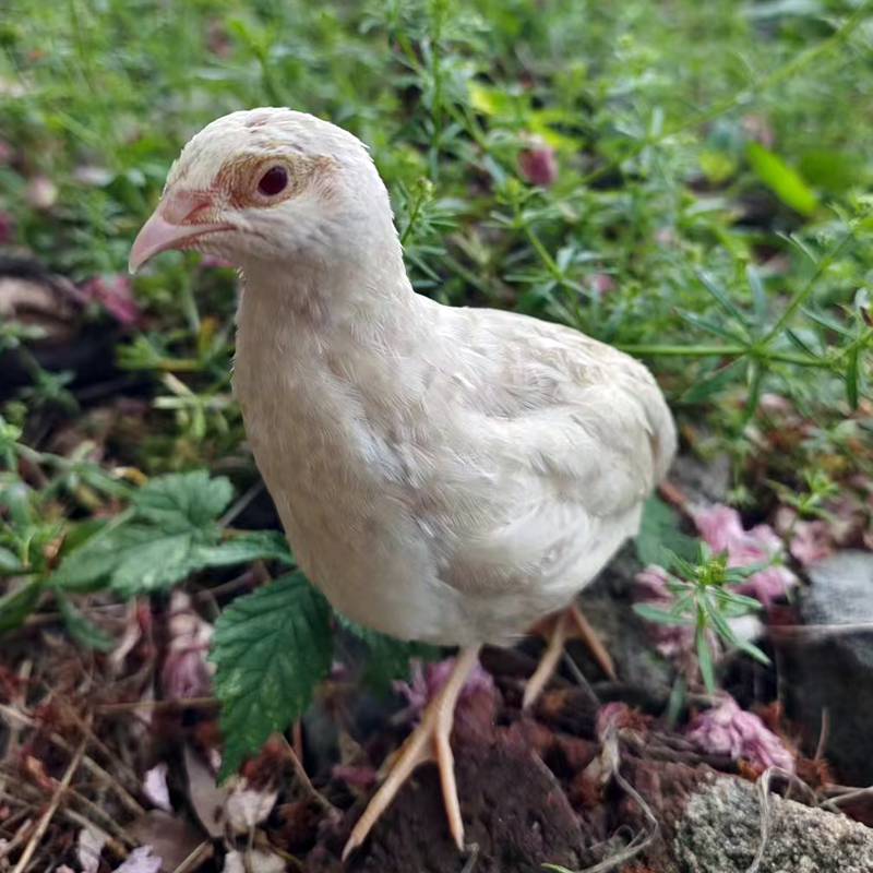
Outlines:
[{"label": "chick's nearer pinkish leg with long splayed toes, in front", "polygon": [[379,787],[363,811],[363,815],[355,825],[351,836],[346,842],[346,848],[343,849],[344,861],[354,849],[367,839],[370,829],[394,800],[394,796],[399,791],[409,774],[419,764],[434,760],[440,768],[440,782],[443,789],[445,813],[449,817],[449,829],[458,849],[464,850],[464,823],[461,820],[461,805],[455,785],[455,760],[449,739],[452,736],[455,704],[464,683],[476,666],[478,656],[479,646],[463,648],[458,653],[445,684],[428,704],[421,721],[407,737],[406,742],[391,763],[387,778]]}]

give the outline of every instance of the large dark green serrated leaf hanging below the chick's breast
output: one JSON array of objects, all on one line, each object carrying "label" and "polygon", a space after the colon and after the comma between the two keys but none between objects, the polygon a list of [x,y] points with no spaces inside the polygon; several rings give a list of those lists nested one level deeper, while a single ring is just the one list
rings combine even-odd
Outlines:
[{"label": "large dark green serrated leaf hanging below the chick's breast", "polygon": [[331,608],[302,573],[280,576],[224,611],[210,655],[223,704],[219,779],[306,711],[332,656]]}]

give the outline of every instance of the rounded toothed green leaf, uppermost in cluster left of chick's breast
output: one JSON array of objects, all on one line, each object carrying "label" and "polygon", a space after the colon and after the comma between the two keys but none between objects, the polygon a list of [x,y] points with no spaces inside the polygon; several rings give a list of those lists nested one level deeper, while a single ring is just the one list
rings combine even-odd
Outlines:
[{"label": "rounded toothed green leaf, uppermost in cluster left of chick's breast", "polygon": [[133,505],[140,517],[165,530],[180,531],[206,526],[220,515],[232,495],[228,479],[213,479],[206,470],[195,470],[152,479],[136,492]]}]

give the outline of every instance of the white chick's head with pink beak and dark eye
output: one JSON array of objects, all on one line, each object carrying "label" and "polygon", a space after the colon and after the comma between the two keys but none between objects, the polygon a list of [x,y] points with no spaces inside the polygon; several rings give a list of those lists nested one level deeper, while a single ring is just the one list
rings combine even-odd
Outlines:
[{"label": "white chick's head with pink beak and dark eye", "polygon": [[360,140],[290,109],[219,118],[182,150],[130,253],[134,273],[169,249],[240,267],[328,260],[393,235],[384,184]]}]

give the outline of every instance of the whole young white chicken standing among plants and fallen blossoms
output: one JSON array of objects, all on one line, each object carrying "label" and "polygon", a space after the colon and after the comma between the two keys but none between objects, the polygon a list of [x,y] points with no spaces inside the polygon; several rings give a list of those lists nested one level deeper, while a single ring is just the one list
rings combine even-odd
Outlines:
[{"label": "whole young white chicken standing among plants and fallen blossoms", "polygon": [[543,619],[526,704],[572,630],[597,645],[573,599],[636,534],[670,464],[661,392],[569,327],[415,294],[366,146],[309,115],[252,109],[198,133],[131,272],[167,249],[241,272],[234,390],[300,567],[360,624],[461,646],[346,854],[431,755],[463,848],[457,695],[482,643]]}]

